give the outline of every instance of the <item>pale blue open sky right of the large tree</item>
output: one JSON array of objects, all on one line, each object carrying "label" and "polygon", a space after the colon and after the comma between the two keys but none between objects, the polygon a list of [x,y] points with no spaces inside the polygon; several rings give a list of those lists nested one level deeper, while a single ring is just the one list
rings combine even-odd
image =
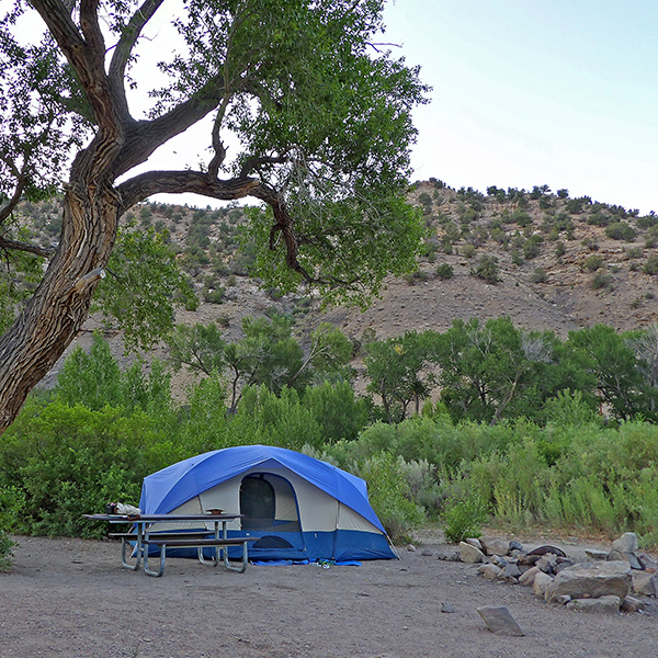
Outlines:
[{"label": "pale blue open sky right of the large tree", "polygon": [[658,2],[397,0],[385,20],[433,87],[416,179],[658,212]]}]

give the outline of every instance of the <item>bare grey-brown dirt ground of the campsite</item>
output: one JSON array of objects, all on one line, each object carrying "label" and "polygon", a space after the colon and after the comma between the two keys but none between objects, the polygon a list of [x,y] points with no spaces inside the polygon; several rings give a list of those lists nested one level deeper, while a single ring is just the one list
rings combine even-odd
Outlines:
[{"label": "bare grey-brown dirt ground of the campsite", "polygon": [[[530,588],[438,559],[455,551],[419,535],[399,560],[362,566],[250,566],[245,574],[169,559],[162,578],[120,565],[111,542],[15,537],[0,575],[0,658],[647,658],[658,655],[658,602],[647,613],[566,610]],[[523,542],[525,547],[545,538]],[[555,538],[568,556],[586,546]],[[477,608],[504,605],[525,636],[489,632]],[[443,610],[450,612],[442,612]]]}]

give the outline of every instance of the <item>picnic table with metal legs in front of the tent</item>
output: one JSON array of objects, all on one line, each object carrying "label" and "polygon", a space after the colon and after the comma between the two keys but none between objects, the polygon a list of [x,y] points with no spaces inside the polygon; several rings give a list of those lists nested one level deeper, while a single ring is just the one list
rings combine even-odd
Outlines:
[{"label": "picnic table with metal legs in front of the tent", "polygon": [[[111,533],[110,536],[121,538],[121,563],[126,569],[136,571],[140,564],[144,564],[144,571],[148,576],[160,577],[164,572],[167,560],[167,547],[195,547],[197,549],[198,560],[202,564],[218,565],[222,557],[224,566],[231,570],[243,572],[247,569],[249,560],[248,543],[256,541],[256,537],[248,536],[228,536],[227,523],[235,519],[243,518],[243,514],[235,513],[206,513],[206,514],[82,514],[84,519],[91,521],[106,521],[107,523],[129,523],[134,530],[125,533]],[[152,531],[157,523],[188,523],[197,522],[204,525],[204,530],[179,529],[175,531]],[[213,524],[207,527],[206,524]],[[222,531],[219,529],[222,526]],[[128,561],[127,546],[134,546],[135,564]],[[242,546],[242,560],[239,567],[234,567],[228,558],[228,546]],[[160,548],[160,566],[154,570],[148,564],[148,553],[150,546]],[[203,549],[211,547],[215,549],[215,557],[207,560],[204,557]]]}]

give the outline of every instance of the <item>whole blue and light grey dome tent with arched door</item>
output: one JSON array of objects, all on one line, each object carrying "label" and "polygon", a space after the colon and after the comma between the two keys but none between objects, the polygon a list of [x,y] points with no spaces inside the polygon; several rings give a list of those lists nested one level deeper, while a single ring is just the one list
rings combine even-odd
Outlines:
[{"label": "whole blue and light grey dome tent with arched door", "polygon": [[256,560],[397,558],[363,479],[282,447],[227,447],[173,464],[144,479],[139,507],[144,514],[239,512],[228,534],[258,537],[249,547]]}]

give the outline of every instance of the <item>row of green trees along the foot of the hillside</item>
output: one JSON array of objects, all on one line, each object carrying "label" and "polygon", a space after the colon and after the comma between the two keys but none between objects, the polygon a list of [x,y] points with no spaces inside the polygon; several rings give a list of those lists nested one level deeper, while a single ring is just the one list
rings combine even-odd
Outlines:
[{"label": "row of green trees along the foot of the hillside", "polygon": [[[327,379],[352,382],[353,344],[321,325],[305,354],[283,316],[247,318],[245,337],[226,342],[215,325],[179,327],[171,341],[174,367],[182,365],[229,384],[235,412],[243,386],[279,394]],[[658,420],[658,326],[617,332],[595,325],[560,339],[553,331],[515,327],[508,317],[454,320],[444,332],[408,331],[360,347],[374,419],[400,422],[433,401],[453,421],[496,424],[527,418],[546,422],[546,409],[564,392],[611,419]]]}]

